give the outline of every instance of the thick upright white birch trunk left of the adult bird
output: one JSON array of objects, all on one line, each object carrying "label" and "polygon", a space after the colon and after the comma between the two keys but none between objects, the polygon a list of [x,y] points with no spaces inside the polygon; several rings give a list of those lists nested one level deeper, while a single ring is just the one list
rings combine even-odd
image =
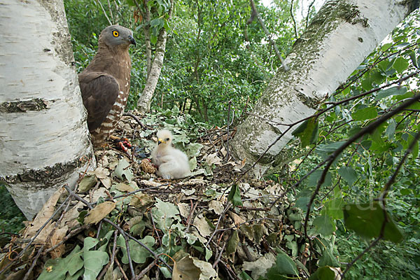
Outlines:
[{"label": "thick upright white birch trunk left of the adult bird", "polygon": [[0,181],[31,219],[96,163],[62,1],[2,1],[0,26]]}]

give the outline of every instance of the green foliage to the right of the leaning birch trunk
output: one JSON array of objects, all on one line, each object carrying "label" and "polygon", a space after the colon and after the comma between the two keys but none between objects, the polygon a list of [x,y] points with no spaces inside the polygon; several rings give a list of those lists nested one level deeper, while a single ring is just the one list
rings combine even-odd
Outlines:
[{"label": "green foliage to the right of the leaning birch trunk", "polygon": [[[300,179],[319,162],[329,160],[347,139],[419,93],[416,90],[420,86],[419,78],[405,80],[419,69],[420,34],[413,29],[418,15],[416,11],[395,29],[386,43],[372,52],[332,94],[330,104],[321,106],[325,109],[334,102],[349,99],[318,117],[316,143],[309,141],[314,138],[310,119],[297,127],[294,135],[299,137],[302,146],[309,146],[314,153],[305,154],[304,162],[292,174],[295,179]],[[326,266],[339,266],[335,256],[338,255],[340,262],[351,262],[380,234],[384,241],[363,255],[346,276],[349,279],[394,279],[394,272],[402,270],[399,265],[405,269],[399,279],[419,276],[418,142],[414,142],[413,151],[400,172],[395,173],[419,132],[418,107],[419,102],[416,102],[384,119],[375,130],[353,141],[330,166],[329,178],[325,179],[312,205],[315,210],[309,217],[309,235],[325,239],[336,236],[337,244],[330,246],[325,241],[317,244],[321,258],[311,279],[330,279],[333,273]],[[296,197],[297,207],[307,206],[322,172],[323,167],[303,181],[304,190]],[[386,190],[386,208],[383,209],[378,197],[394,173],[395,181],[391,190]],[[385,252],[389,255],[385,256]]]}]

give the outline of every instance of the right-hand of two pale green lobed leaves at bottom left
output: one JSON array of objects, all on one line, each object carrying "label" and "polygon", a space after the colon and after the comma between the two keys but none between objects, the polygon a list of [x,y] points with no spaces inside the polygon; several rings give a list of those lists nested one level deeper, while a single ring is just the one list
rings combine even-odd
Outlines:
[{"label": "right-hand of two pale green lobed leaves at bottom left", "polygon": [[90,251],[98,244],[98,239],[86,237],[83,244],[83,260],[85,272],[83,273],[83,280],[94,280],[97,278],[102,267],[109,261],[108,253],[102,251]]}]

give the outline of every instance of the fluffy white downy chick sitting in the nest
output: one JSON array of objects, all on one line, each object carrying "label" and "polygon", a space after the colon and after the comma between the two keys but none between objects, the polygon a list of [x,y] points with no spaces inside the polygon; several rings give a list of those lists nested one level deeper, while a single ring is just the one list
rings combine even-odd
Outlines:
[{"label": "fluffy white downy chick sitting in the nest", "polygon": [[163,179],[181,179],[190,172],[187,155],[172,147],[172,133],[159,130],[158,145],[152,152],[152,162],[158,165],[156,174]]}]

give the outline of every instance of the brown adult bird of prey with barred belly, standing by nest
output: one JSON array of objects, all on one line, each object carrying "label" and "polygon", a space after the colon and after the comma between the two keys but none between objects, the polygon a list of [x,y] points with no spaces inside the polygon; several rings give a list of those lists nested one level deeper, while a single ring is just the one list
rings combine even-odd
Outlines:
[{"label": "brown adult bird of prey with barred belly, standing by nest", "polygon": [[119,25],[102,30],[92,62],[78,75],[87,127],[94,146],[104,144],[123,115],[130,92],[133,32]]}]

